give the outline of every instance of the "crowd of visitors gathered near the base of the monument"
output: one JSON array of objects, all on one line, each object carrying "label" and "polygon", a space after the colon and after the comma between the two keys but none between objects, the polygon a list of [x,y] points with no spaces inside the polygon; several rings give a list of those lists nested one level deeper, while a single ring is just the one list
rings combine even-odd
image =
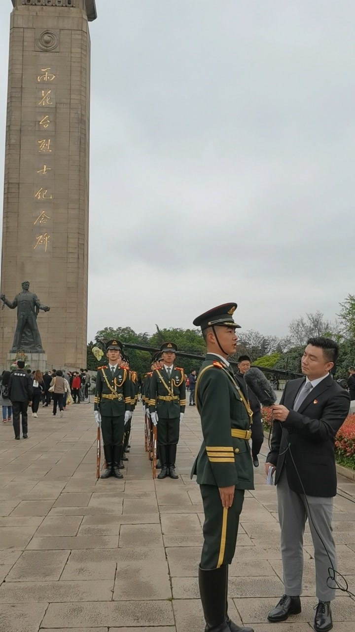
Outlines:
[{"label": "crowd of visitors gathered near the base of the monument", "polygon": [[[23,360],[18,360],[15,370],[3,371],[0,379],[0,406],[3,407],[3,423],[13,422],[15,439],[20,439],[20,413],[22,417],[23,439],[27,439],[28,406],[32,417],[38,418],[39,408],[53,406],[52,414],[63,417],[64,410],[72,403],[80,404],[89,397],[91,386],[87,368],[80,371],[39,369],[25,370]],[[18,404],[21,403],[21,406]]]}]

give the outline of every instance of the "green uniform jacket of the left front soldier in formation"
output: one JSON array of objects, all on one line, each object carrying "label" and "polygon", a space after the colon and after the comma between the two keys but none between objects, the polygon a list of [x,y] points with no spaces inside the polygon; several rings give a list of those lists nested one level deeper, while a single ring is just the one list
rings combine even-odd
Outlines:
[{"label": "green uniform jacket of the left front soldier in formation", "polygon": [[129,370],[116,368],[114,375],[108,365],[97,370],[93,410],[105,417],[119,417],[131,411],[131,380]]}]

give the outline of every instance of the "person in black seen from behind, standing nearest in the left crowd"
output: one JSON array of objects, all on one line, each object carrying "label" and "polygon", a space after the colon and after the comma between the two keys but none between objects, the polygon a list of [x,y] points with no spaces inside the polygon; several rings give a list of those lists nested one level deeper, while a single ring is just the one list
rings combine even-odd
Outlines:
[{"label": "person in black seen from behind, standing nearest in the left crowd", "polygon": [[22,416],[23,439],[27,439],[27,408],[32,403],[32,377],[24,370],[25,362],[17,361],[16,370],[9,379],[9,399],[13,404],[13,429],[15,439],[20,439],[20,413]]}]

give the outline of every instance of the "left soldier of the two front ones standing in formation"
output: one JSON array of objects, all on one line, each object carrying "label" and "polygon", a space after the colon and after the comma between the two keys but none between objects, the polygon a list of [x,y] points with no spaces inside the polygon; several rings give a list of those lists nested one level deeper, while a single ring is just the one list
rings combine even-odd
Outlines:
[{"label": "left soldier of the two front ones standing in formation", "polygon": [[110,340],[106,344],[109,363],[97,370],[94,415],[101,426],[107,465],[101,478],[123,478],[119,464],[123,456],[124,425],[132,413],[129,371],[121,367],[122,348],[119,341]]}]

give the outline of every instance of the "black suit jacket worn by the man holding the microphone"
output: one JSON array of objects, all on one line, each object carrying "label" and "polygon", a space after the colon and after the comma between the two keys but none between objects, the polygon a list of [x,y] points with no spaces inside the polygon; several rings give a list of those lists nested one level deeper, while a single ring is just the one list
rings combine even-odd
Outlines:
[{"label": "black suit jacket worn by the man holding the microphone", "polygon": [[276,466],[275,485],[282,468],[286,467],[287,481],[294,492],[304,493],[301,478],[307,495],[335,496],[334,441],[349,413],[349,393],[328,375],[311,390],[298,411],[292,410],[304,381],[301,377],[286,384],[280,404],[284,404],[290,412],[286,422],[273,424],[267,462]]}]

